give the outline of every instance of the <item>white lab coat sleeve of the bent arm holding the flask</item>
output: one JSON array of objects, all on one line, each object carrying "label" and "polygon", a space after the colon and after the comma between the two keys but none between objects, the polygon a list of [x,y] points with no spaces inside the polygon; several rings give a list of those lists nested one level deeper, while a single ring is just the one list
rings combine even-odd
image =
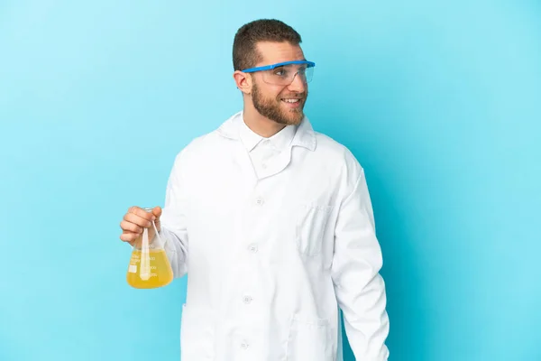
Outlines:
[{"label": "white lab coat sleeve of the bent arm holding the flask", "polygon": [[170,172],[165,193],[165,205],[160,217],[161,233],[167,238],[165,251],[175,278],[188,273],[187,192],[182,174],[181,154],[175,160]]}]

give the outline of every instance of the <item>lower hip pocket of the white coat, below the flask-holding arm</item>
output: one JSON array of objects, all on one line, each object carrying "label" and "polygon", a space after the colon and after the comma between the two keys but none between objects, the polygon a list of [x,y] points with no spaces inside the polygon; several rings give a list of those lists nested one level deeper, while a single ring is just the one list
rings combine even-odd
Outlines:
[{"label": "lower hip pocket of the white coat, below the flask-holding arm", "polygon": [[214,359],[213,321],[202,310],[182,306],[180,355],[182,361]]}]

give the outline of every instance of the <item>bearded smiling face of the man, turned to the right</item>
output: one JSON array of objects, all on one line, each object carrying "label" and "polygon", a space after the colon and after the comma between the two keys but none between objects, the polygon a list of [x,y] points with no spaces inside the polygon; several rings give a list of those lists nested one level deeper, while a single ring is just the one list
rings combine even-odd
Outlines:
[{"label": "bearded smiling face of the man, turned to the right", "polygon": [[[276,64],[289,60],[304,60],[298,45],[289,42],[260,42],[258,51],[262,56],[256,66]],[[252,74],[252,103],[261,114],[281,125],[298,125],[304,117],[307,101],[307,84],[299,75],[289,85],[274,85],[263,81],[261,73]]]}]

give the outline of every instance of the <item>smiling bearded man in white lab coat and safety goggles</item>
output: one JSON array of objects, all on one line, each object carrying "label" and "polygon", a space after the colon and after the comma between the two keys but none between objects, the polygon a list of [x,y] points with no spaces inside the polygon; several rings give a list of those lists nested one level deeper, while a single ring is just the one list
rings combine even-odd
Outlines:
[{"label": "smiling bearded man in white lab coat and safety goggles", "polygon": [[243,111],[177,156],[163,211],[130,208],[121,239],[155,218],[188,274],[182,361],[359,361],[389,351],[381,248],[359,162],[303,113],[315,64],[285,23],[234,38]]}]

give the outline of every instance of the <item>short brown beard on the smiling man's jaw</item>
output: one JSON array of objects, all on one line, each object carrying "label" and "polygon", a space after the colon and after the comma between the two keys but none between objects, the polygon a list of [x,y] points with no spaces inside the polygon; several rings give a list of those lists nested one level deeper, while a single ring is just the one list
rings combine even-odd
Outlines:
[{"label": "short brown beard on the smiling man's jaw", "polygon": [[257,84],[253,84],[252,103],[253,107],[261,114],[280,125],[299,125],[304,118],[303,108],[307,100],[307,93],[296,94],[301,97],[298,101],[300,106],[295,109],[284,109],[279,98],[264,97]]}]

